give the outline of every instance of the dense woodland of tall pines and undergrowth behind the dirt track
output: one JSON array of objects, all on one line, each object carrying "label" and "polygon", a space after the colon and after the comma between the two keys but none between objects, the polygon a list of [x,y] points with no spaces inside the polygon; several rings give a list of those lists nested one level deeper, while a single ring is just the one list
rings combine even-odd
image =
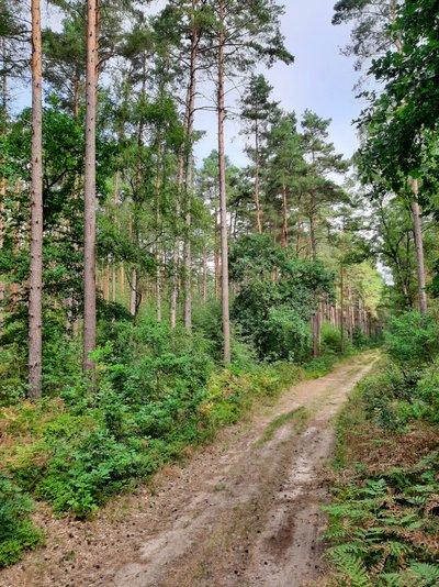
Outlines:
[{"label": "dense woodland of tall pines and undergrowth behind the dirt track", "polygon": [[[60,26],[41,20],[50,4]],[[262,66],[294,67],[273,0],[41,9],[0,0],[8,495],[86,517],[236,421],[250,391],[324,373],[390,319],[432,361],[437,1],[337,2],[365,104],[353,160],[330,120],[273,100]],[[218,129],[202,162],[201,108]],[[229,117],[245,167],[227,157]],[[29,523],[0,562],[40,540]]]}]

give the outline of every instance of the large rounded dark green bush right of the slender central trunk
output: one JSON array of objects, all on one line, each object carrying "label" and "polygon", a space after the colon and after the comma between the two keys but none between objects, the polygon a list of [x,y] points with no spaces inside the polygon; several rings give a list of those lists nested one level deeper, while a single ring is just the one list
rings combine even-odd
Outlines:
[{"label": "large rounded dark green bush right of the slender central trunk", "polygon": [[[244,236],[230,252],[239,285],[233,317],[264,361],[300,361],[309,344],[316,296],[330,292],[333,275],[319,263],[291,259],[269,236]],[[275,277],[273,277],[275,276]]]}]

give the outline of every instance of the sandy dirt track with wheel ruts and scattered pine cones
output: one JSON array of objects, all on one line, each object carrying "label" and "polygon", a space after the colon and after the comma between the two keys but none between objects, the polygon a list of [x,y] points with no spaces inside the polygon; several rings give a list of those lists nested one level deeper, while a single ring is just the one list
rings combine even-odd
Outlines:
[{"label": "sandy dirt track with wheel ruts and scattered pine cones", "polygon": [[375,358],[364,353],[292,387],[91,521],[38,505],[46,544],[0,573],[0,585],[300,587],[317,578],[333,419]]}]

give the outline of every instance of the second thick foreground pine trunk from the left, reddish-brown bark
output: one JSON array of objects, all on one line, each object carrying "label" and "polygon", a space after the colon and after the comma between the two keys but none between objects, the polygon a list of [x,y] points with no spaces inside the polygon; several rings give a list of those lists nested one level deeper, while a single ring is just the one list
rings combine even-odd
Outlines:
[{"label": "second thick foreground pine trunk from the left, reddish-brown bark", "polygon": [[98,4],[87,4],[87,92],[86,92],[86,177],[85,177],[85,267],[83,267],[83,363],[85,373],[95,378],[95,365],[89,357],[97,342],[95,306],[95,110],[98,68]]}]

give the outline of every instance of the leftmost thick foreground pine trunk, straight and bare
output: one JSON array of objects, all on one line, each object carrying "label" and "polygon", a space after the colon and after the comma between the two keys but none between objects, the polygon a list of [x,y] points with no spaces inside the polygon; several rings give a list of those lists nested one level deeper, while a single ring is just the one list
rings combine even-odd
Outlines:
[{"label": "leftmost thick foreground pine trunk, straight and bare", "polygon": [[29,291],[29,397],[42,395],[43,356],[43,93],[40,0],[32,0],[32,179]]}]

